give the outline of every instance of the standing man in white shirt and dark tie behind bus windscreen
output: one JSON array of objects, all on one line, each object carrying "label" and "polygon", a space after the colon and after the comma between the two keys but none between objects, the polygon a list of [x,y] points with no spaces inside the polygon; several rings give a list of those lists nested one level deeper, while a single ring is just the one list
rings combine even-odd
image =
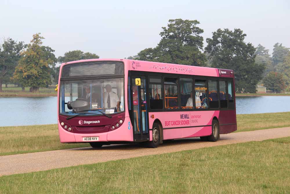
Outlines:
[{"label": "standing man in white shirt and dark tie behind bus windscreen", "polygon": [[120,100],[119,97],[115,92],[112,92],[112,86],[110,84],[107,84],[105,86],[106,92],[104,93],[104,105],[105,108],[112,108],[115,109],[115,111],[120,112]]}]

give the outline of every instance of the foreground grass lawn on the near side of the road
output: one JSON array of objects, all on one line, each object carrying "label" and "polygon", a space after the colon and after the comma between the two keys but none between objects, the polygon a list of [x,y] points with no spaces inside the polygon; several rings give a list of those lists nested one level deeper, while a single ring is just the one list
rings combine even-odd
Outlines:
[{"label": "foreground grass lawn on the near side of the road", "polygon": [[3,176],[0,193],[289,193],[289,150],[287,137]]}]

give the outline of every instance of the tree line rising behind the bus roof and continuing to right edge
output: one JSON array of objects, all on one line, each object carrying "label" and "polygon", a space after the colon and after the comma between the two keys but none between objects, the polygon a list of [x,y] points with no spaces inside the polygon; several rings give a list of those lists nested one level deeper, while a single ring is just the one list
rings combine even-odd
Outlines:
[{"label": "tree line rising behind the bus roof and continuing to right edge", "polygon": [[206,38],[197,20],[170,19],[162,27],[161,40],[155,48],[146,48],[130,59],[163,63],[231,69],[235,73],[236,92],[256,93],[262,84],[268,90],[290,91],[290,51],[281,43],[274,45],[272,56],[262,45],[244,41],[241,29],[217,29]]}]

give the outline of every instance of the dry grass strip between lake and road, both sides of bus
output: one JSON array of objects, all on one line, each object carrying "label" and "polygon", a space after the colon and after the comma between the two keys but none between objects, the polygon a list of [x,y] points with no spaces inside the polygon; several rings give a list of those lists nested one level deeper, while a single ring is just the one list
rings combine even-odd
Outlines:
[{"label": "dry grass strip between lake and road, both sides of bus", "polygon": [[[290,112],[237,115],[237,132],[288,127],[289,118]],[[0,156],[90,146],[60,143],[56,124],[0,127],[0,140]]]}]

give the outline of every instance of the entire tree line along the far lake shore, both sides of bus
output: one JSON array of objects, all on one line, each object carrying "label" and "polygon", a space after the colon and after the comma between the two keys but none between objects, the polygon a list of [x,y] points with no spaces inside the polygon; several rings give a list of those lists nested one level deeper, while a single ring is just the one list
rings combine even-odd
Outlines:
[{"label": "entire tree line along the far lake shore, both sides of bus", "polygon": [[[290,90],[290,51],[276,43],[272,52],[258,45],[246,43],[247,36],[241,29],[217,29],[203,46],[203,29],[197,20],[170,19],[162,27],[161,40],[154,48],[139,51],[128,59],[175,63],[203,67],[232,69],[235,72],[236,92],[256,92],[256,85],[263,84],[269,90]],[[99,58],[97,54],[80,50],[68,51],[55,57],[54,50],[42,45],[40,33],[33,35],[30,44],[3,39],[0,46],[0,92],[2,83],[17,83],[39,87],[57,83],[59,66],[73,60]]]}]

